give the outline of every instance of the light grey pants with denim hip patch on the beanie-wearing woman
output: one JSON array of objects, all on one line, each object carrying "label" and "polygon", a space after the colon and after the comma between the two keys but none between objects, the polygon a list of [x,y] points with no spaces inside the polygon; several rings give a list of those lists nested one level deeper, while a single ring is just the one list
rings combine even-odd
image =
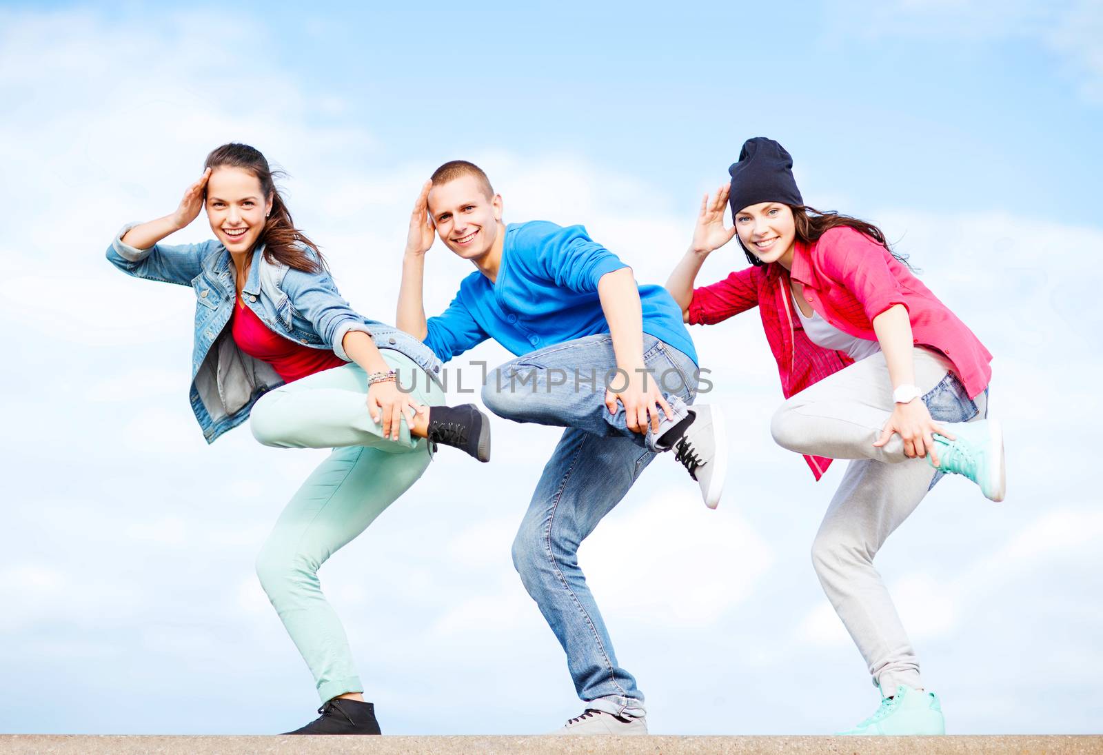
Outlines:
[{"label": "light grey pants with denim hip patch on the beanie-wearing woman", "polygon": [[[936,422],[968,422],[987,414],[987,392],[970,401],[941,354],[914,349],[915,385]],[[827,507],[812,544],[812,563],[827,599],[869,666],[874,683],[922,688],[919,661],[874,556],[936,481],[925,459],[909,459],[899,435],[874,442],[893,408],[885,354],[876,353],[791,397],[771,430],[790,450],[854,459]],[[941,474],[940,474],[941,476]]]}]

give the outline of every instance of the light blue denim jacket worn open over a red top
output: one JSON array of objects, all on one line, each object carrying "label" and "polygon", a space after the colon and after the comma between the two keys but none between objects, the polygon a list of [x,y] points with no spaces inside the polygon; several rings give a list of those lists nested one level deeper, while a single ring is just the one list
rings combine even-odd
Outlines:
[{"label": "light blue denim jacket worn open over a red top", "polygon": [[[195,293],[195,340],[190,398],[207,443],[249,416],[266,391],[283,384],[267,362],[237,348],[226,326],[234,311],[234,264],[218,241],[138,249],[122,243],[125,225],[107,247],[107,259],[138,278],[191,286]],[[439,383],[440,360],[424,343],[392,326],[355,312],[325,272],[303,273],[253,255],[242,298],[269,330],[312,349],[331,349],[351,361],[341,341],[351,330],[368,333],[379,349],[409,357]]]}]

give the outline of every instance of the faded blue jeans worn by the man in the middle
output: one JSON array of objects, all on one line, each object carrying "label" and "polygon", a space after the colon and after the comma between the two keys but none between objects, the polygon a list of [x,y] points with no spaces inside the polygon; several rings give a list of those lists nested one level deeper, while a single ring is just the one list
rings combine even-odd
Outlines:
[{"label": "faded blue jeans worn by the man in the middle", "polygon": [[[644,334],[644,364],[676,415],[697,390],[697,365]],[[489,373],[483,403],[514,422],[566,427],[544,467],[513,542],[513,563],[567,653],[578,696],[588,708],[644,715],[643,693],[617,662],[578,546],[628,493],[655,457],[653,438],[628,428],[624,408],[604,405],[606,376],[615,371],[609,334],[589,336],[520,357]],[[623,376],[612,381],[623,384]]]}]

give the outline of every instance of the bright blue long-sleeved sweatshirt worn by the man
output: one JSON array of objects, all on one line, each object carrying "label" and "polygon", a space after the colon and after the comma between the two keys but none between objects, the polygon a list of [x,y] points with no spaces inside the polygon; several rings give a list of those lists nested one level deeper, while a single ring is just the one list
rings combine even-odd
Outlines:
[{"label": "bright blue long-sleeved sweatshirt worn by the man", "polygon": [[[488,338],[515,355],[608,333],[598,280],[628,267],[596,243],[581,225],[547,221],[511,223],[505,228],[497,281],[475,270],[442,315],[428,320],[425,343],[447,362]],[[643,332],[697,362],[682,309],[662,286],[640,286]]]}]

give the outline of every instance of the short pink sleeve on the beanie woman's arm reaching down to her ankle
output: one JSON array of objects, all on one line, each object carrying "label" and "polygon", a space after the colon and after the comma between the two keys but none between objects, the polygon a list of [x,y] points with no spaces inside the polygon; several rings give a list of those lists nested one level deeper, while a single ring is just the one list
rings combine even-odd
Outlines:
[{"label": "short pink sleeve on the beanie woman's arm reaching down to her ankle", "polygon": [[818,272],[846,288],[870,322],[889,307],[908,307],[906,293],[890,267],[892,255],[860,231],[827,231],[813,256]]}]

